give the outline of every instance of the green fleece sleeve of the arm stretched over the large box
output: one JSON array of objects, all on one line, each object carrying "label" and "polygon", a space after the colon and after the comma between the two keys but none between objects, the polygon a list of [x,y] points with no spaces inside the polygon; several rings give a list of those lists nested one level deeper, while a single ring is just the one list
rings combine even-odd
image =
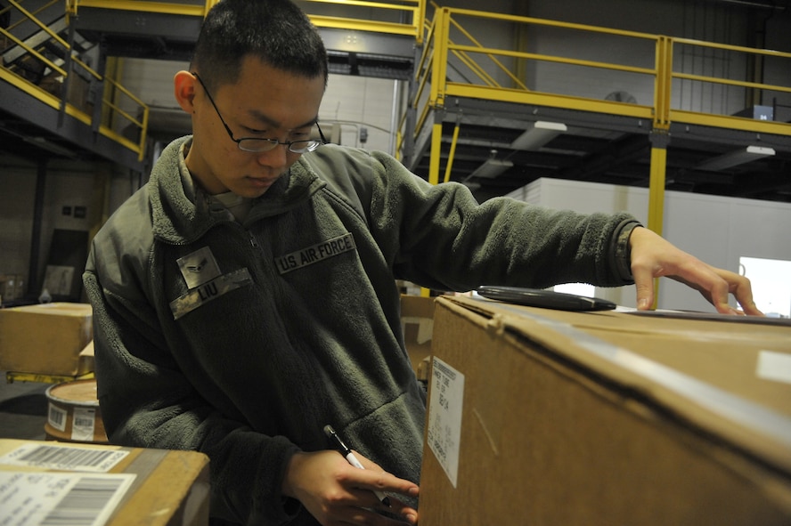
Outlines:
[{"label": "green fleece sleeve of the arm stretched over the large box", "polygon": [[578,214],[512,198],[478,204],[462,184],[431,185],[396,159],[373,155],[371,228],[401,279],[458,291],[632,283],[618,242],[638,224],[631,214]]}]

